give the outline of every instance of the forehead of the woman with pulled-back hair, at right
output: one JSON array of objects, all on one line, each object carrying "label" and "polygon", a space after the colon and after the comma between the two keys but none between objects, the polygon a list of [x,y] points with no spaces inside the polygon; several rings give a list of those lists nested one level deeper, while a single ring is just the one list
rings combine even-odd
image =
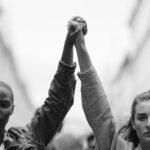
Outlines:
[{"label": "forehead of the woman with pulled-back hair, at right", "polygon": [[139,102],[135,107],[135,114],[149,114],[150,115],[150,101]]}]

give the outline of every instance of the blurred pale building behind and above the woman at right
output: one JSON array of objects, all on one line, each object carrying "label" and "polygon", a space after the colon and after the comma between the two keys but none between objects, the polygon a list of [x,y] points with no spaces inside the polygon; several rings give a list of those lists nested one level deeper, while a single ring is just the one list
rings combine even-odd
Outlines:
[{"label": "blurred pale building behind and above the woman at right", "polygon": [[[135,0],[129,20],[130,53],[110,84],[109,98],[115,116],[130,113],[134,97],[150,89],[150,1]],[[121,115],[121,116],[120,116]]]}]

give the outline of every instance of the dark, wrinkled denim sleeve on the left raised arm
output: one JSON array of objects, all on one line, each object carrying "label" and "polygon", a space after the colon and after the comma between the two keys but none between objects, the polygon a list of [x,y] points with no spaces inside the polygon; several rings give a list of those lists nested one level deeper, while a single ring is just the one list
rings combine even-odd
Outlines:
[{"label": "dark, wrinkled denim sleeve on the left raised arm", "polygon": [[47,145],[60,127],[74,100],[76,64],[59,62],[48,97],[29,124],[35,142]]}]

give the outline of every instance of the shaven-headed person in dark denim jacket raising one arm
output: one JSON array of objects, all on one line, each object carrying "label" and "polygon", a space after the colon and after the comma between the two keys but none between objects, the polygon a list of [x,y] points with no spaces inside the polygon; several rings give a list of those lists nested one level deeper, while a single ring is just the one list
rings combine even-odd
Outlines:
[{"label": "shaven-headed person in dark denim jacket raising one arm", "polygon": [[74,99],[76,64],[73,62],[73,44],[76,34],[73,32],[72,28],[67,32],[48,97],[24,127],[11,127],[6,131],[14,110],[14,95],[11,87],[0,81],[0,149],[43,150],[56,134]]}]

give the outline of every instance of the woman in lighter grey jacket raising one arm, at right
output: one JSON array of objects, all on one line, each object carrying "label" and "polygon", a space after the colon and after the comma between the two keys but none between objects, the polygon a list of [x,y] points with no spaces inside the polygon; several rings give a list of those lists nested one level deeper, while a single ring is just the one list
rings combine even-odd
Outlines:
[{"label": "woman in lighter grey jacket raising one arm, at right", "polygon": [[[84,19],[75,20],[80,26]],[[76,25],[77,26],[77,25]],[[150,150],[150,90],[135,97],[131,118],[119,133],[100,78],[85,44],[85,34],[78,31],[75,41],[81,80],[82,106],[93,129],[98,150]],[[124,138],[119,134],[123,134]]]}]

